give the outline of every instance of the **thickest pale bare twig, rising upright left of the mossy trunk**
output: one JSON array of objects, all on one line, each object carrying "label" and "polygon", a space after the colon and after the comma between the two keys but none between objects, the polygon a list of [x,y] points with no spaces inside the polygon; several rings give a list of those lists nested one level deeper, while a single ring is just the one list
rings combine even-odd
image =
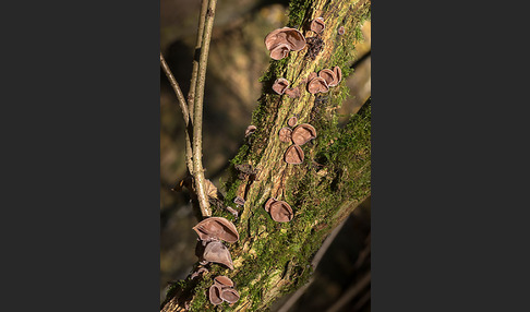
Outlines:
[{"label": "thickest pale bare twig, rising upright left of the mossy trunk", "polygon": [[202,163],[203,144],[203,100],[204,84],[206,81],[206,65],[208,63],[209,41],[212,39],[212,28],[214,27],[214,15],[217,0],[209,0],[206,16],[204,20],[203,43],[201,56],[198,58],[197,85],[195,87],[194,117],[193,117],[193,171],[195,177],[195,190],[197,192],[198,205],[204,217],[210,216],[208,197],[204,187],[204,169]]}]

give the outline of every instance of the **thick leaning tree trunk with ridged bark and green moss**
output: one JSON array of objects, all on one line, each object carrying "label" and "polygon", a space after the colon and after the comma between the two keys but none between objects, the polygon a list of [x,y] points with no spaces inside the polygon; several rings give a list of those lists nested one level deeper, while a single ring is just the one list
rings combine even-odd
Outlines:
[{"label": "thick leaning tree trunk with ridged bark and green moss", "polygon": [[[324,17],[321,34],[323,50],[314,58],[308,48],[291,51],[286,59],[272,61],[262,77],[263,94],[253,113],[257,130],[231,160],[229,179],[225,182],[224,205],[236,207],[233,200],[245,200],[239,218],[220,207],[213,216],[225,217],[237,226],[240,240],[229,243],[234,269],[209,264],[208,273],[181,280],[168,291],[161,311],[263,311],[276,299],[304,285],[312,273],[311,260],[325,237],[342,221],[366,196],[371,188],[371,105],[370,100],[339,127],[336,109],[349,96],[344,80],[350,74],[354,45],[360,27],[370,19],[370,0],[294,0],[290,3],[289,27],[303,29],[305,38],[315,36],[306,25]],[[339,35],[339,26],[345,34]],[[264,47],[264,52],[266,52]],[[340,67],[342,82],[328,93],[306,92],[306,77],[322,69]],[[275,94],[270,86],[285,77],[290,87],[300,87],[301,96],[290,98]],[[298,123],[310,123],[317,136],[302,145],[304,160],[289,165],[284,160],[288,143],[279,141],[278,132],[287,120],[298,117]],[[256,179],[241,175],[237,165],[257,169]],[[286,201],[294,212],[289,223],[276,223],[264,209],[269,197]],[[197,265],[198,266],[198,265]],[[217,275],[234,281],[240,300],[232,305],[209,303],[207,291]]]}]

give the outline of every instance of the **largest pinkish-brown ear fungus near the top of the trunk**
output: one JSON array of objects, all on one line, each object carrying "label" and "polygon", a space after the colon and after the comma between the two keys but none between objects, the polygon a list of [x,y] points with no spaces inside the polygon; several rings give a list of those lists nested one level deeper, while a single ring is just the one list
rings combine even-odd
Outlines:
[{"label": "largest pinkish-brown ear fungus near the top of the trunk", "polygon": [[270,52],[270,58],[280,60],[289,51],[298,51],[305,47],[305,38],[294,28],[284,27],[270,32],[265,37],[265,46]]}]

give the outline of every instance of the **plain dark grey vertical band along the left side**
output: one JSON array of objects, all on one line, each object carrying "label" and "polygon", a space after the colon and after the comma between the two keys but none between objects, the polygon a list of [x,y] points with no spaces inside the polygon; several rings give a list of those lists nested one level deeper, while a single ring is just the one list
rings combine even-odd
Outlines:
[{"label": "plain dark grey vertical band along the left side", "polygon": [[3,311],[159,309],[159,8],[2,4]]}]

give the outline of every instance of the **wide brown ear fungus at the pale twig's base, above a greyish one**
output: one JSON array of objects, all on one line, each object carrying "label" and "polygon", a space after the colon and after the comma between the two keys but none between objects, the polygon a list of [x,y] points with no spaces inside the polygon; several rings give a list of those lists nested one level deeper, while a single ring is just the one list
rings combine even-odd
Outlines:
[{"label": "wide brown ear fungus at the pale twig's base, above a greyish one", "polygon": [[222,217],[209,217],[200,221],[193,227],[201,240],[219,239],[228,242],[239,240],[238,229],[236,226]]}]

